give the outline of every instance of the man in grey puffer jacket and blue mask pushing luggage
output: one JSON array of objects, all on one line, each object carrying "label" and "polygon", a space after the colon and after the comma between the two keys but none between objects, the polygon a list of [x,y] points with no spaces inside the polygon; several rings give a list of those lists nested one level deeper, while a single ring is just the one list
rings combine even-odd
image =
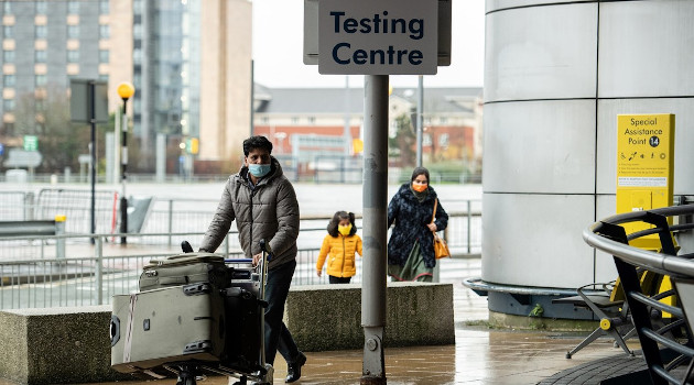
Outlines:
[{"label": "man in grey puffer jacket and blue mask pushing luggage", "polygon": [[267,240],[268,264],[264,314],[265,362],[274,364],[279,350],[288,365],[286,383],[301,377],[306,363],[289,329],[282,321],[284,302],[296,268],[299,201],[280,162],[272,155],[272,143],[264,136],[243,141],[243,166],[227,180],[217,211],[205,233],[200,252],[213,253],[236,220],[239,243],[247,257],[258,264],[262,257],[259,241]]}]

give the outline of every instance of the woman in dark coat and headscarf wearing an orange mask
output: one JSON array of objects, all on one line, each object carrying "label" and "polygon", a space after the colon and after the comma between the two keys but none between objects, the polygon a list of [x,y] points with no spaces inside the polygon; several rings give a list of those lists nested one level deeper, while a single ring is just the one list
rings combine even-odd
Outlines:
[{"label": "woman in dark coat and headscarf wearing an orange mask", "polygon": [[429,170],[416,167],[410,183],[403,184],[388,205],[388,227],[393,226],[388,241],[388,275],[395,280],[432,279],[436,265],[434,234],[445,230],[448,215],[441,201],[432,223],[436,191],[429,185]]}]

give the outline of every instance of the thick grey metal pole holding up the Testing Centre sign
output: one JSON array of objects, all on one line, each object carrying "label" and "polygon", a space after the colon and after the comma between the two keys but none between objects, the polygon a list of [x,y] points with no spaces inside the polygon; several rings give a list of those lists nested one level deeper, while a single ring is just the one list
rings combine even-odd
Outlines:
[{"label": "thick grey metal pole holding up the Testing Centre sign", "polygon": [[388,229],[388,75],[365,77],[364,283],[360,384],[386,384],[386,263]]}]

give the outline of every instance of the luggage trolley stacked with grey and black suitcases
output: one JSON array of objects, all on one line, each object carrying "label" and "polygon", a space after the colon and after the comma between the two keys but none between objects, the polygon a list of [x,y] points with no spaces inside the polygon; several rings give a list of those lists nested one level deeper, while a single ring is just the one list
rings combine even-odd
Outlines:
[{"label": "luggage trolley stacked with grey and black suitcases", "polygon": [[[140,292],[113,296],[111,367],[118,372],[194,385],[203,373],[272,384],[264,358],[264,243],[252,260],[184,253],[152,260],[140,276]],[[187,251],[187,252],[186,252]]]}]

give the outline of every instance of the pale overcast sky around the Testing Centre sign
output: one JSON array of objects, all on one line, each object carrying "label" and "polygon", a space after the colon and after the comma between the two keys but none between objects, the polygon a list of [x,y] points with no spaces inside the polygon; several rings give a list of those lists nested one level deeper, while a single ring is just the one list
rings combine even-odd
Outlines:
[{"label": "pale overcast sky around the Testing Centre sign", "polygon": [[[252,0],[256,82],[268,87],[344,87],[344,75],[321,75],[303,64],[304,0]],[[424,76],[424,87],[481,87],[485,57],[485,2],[453,0],[449,67]],[[418,76],[390,76],[394,87],[416,87]],[[350,76],[362,87],[364,76]]]}]

